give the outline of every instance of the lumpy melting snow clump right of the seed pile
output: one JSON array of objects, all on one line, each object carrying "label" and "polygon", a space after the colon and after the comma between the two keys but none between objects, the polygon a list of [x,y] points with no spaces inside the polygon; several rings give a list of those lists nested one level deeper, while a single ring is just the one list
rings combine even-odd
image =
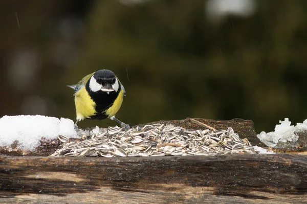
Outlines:
[{"label": "lumpy melting snow clump right of the seed pile", "polygon": [[259,140],[268,146],[275,148],[293,148],[297,146],[298,132],[307,130],[307,120],[303,123],[297,123],[296,126],[291,125],[291,121],[285,118],[279,121],[280,124],[275,126],[274,132],[260,132],[257,134]]}]

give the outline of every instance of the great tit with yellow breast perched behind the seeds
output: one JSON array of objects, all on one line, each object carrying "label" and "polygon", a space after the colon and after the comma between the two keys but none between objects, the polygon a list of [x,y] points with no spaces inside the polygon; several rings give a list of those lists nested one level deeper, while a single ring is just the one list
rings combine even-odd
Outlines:
[{"label": "great tit with yellow breast perched behind the seeds", "polygon": [[74,88],[77,123],[84,119],[102,120],[109,118],[120,123],[121,127],[127,129],[129,125],[115,118],[119,110],[123,96],[126,96],[124,86],[112,71],[99,70],[86,75]]}]

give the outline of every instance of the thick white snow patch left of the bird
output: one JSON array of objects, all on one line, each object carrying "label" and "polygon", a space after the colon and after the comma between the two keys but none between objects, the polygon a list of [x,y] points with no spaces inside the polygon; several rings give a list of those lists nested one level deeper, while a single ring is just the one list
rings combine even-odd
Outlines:
[{"label": "thick white snow patch left of the bird", "polygon": [[4,116],[0,118],[0,146],[10,146],[19,142],[19,148],[34,150],[43,137],[54,139],[57,136],[76,137],[74,122],[65,118],[47,116]]}]

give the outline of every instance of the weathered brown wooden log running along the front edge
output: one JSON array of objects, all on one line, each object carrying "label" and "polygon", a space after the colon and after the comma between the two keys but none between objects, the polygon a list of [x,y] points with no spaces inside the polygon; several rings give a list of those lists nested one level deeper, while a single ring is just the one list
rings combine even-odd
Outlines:
[{"label": "weathered brown wooden log running along the front edge", "polygon": [[0,156],[1,203],[305,203],[307,157]]}]

